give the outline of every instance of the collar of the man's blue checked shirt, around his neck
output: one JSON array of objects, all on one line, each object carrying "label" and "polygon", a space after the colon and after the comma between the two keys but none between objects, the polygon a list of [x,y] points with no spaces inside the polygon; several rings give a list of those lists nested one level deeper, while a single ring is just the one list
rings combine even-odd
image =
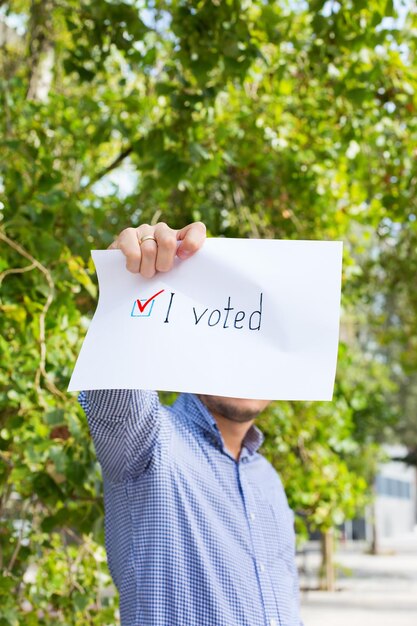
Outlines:
[{"label": "collar of the man's blue checked shirt, around his neck", "polygon": [[[187,419],[191,419],[204,431],[210,433],[213,439],[224,448],[224,442],[217,426],[217,422],[210,413],[206,405],[194,394],[183,393],[175,403],[175,408],[179,408]],[[264,436],[256,426],[252,425],[245,435],[242,448],[246,448],[250,455],[260,448],[264,441]]]}]

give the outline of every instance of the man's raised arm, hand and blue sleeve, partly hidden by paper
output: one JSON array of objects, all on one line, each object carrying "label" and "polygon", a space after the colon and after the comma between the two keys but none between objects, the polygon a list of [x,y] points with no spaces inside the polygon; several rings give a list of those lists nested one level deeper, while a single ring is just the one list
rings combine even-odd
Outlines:
[{"label": "man's raised arm, hand and blue sleeve, partly hidden by paper", "polygon": [[[126,256],[126,268],[152,278],[168,272],[175,256],[187,259],[204,243],[206,229],[196,222],[181,230],[160,223],[126,228],[111,244]],[[163,355],[162,355],[163,358]],[[154,391],[101,389],[79,396],[91,435],[108,480],[120,482],[143,472],[161,443],[163,413]]]}]

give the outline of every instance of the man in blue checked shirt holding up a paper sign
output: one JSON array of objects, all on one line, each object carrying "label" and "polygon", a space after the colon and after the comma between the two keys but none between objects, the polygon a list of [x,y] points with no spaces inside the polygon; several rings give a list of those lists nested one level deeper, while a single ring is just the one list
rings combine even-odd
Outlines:
[{"label": "man in blue checked shirt holding up a paper sign", "polygon": [[[199,222],[144,224],[110,248],[151,278],[204,240]],[[155,350],[163,359],[164,346]],[[138,358],[146,367],[140,346]],[[137,389],[82,392],[80,402],[103,471],[122,625],[299,626],[293,515],[257,452],[254,420],[268,402],[181,394],[164,407]]]}]

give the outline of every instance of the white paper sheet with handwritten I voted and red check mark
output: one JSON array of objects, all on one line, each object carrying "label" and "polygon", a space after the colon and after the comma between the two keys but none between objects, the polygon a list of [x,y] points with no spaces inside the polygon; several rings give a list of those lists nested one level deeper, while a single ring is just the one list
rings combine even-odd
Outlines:
[{"label": "white paper sheet with handwritten I voted and red check mark", "polygon": [[208,239],[152,279],[94,250],[100,297],[69,390],[331,400],[342,243]]}]

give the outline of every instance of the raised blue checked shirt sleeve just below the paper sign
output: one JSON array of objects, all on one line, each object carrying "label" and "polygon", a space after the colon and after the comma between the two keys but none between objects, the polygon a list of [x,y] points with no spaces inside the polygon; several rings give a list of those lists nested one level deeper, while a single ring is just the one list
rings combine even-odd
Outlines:
[{"label": "raised blue checked shirt sleeve just below the paper sign", "polygon": [[82,391],[85,411],[103,476],[123,482],[151,463],[161,430],[162,407],[155,391]]}]

